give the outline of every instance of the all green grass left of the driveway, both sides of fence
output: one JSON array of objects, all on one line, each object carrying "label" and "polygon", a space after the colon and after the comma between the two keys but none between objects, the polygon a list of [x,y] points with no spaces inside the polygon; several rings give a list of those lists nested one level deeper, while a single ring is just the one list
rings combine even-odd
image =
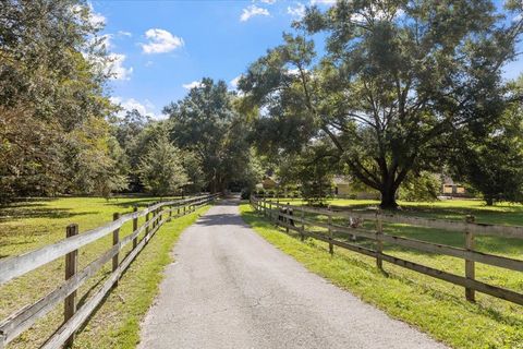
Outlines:
[{"label": "all green grass left of the driveway, both sides of fence", "polygon": [[[169,200],[174,197],[169,197]],[[27,201],[0,208],[0,258],[17,255],[65,238],[65,227],[77,224],[80,232],[99,227],[121,214],[159,201],[158,197],[119,197],[109,201],[101,197],[65,197]],[[168,200],[168,198],[163,198]],[[139,321],[156,296],[163,267],[171,262],[169,254],[180,233],[192,225],[208,206],[194,214],[166,224],[131,264],[111,291],[78,334],[75,348],[134,348],[139,340]],[[139,218],[138,225],[145,221]],[[132,222],[125,224],[120,236],[132,231]],[[141,234],[142,237],[143,234]],[[78,270],[112,245],[108,234],[80,250]],[[120,253],[120,260],[129,253],[132,243]],[[93,294],[110,273],[108,263],[100,273],[89,279],[78,291],[82,303]],[[23,277],[0,287],[0,318],[31,304],[51,291],[64,277],[64,261],[59,258]],[[63,309],[57,306],[49,315],[19,337],[8,348],[38,348],[61,324]]]}]

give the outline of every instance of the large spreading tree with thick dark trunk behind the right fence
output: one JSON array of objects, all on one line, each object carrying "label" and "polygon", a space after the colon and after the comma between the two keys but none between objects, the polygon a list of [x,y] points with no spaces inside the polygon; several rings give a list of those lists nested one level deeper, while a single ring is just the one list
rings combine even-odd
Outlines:
[{"label": "large spreading tree with thick dark trunk behind the right fence", "polygon": [[328,144],[326,156],[379,191],[384,208],[397,207],[409,179],[445,164],[489,203],[516,200],[521,93],[501,73],[516,56],[523,16],[519,1],[504,5],[340,0],[327,11],[307,8],[296,34],[284,34],[240,81],[243,110],[263,110],[258,149],[308,158],[311,147]]}]

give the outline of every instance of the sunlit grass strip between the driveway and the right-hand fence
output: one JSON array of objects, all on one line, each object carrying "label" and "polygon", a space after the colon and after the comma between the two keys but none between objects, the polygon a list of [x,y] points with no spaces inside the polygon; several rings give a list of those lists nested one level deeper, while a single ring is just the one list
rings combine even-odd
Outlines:
[{"label": "sunlit grass strip between the driveway and the right-hand fence", "polygon": [[455,290],[441,292],[431,284],[442,281],[408,270],[386,277],[376,269],[374,258],[341,249],[331,257],[325,243],[312,239],[301,242],[285,234],[257,216],[250,204],[242,204],[240,209],[258,234],[308,270],[437,340],[454,348],[523,348],[521,318],[466,302],[461,287],[448,285]]}]

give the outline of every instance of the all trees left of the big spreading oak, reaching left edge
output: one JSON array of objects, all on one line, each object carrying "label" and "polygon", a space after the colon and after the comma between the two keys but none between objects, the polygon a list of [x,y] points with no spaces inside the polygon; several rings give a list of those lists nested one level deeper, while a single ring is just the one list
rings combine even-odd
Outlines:
[{"label": "all trees left of the big spreading oak, reaching left edge", "polygon": [[82,0],[0,3],[0,203],[256,181],[236,96],[221,81],[172,103],[168,120],[117,117],[100,29]]}]

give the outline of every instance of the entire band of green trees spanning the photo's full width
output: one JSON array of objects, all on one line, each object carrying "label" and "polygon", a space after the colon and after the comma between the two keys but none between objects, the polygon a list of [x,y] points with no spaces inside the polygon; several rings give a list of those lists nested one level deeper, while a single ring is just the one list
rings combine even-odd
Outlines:
[{"label": "entire band of green trees spanning the photo's full width", "polygon": [[520,1],[340,0],[293,28],[238,93],[205,77],[151,120],[117,116],[87,2],[0,2],[0,202],[250,189],[264,173],[321,201],[346,174],[394,208],[436,196],[441,171],[488,204],[523,201],[523,80],[502,79]]}]

